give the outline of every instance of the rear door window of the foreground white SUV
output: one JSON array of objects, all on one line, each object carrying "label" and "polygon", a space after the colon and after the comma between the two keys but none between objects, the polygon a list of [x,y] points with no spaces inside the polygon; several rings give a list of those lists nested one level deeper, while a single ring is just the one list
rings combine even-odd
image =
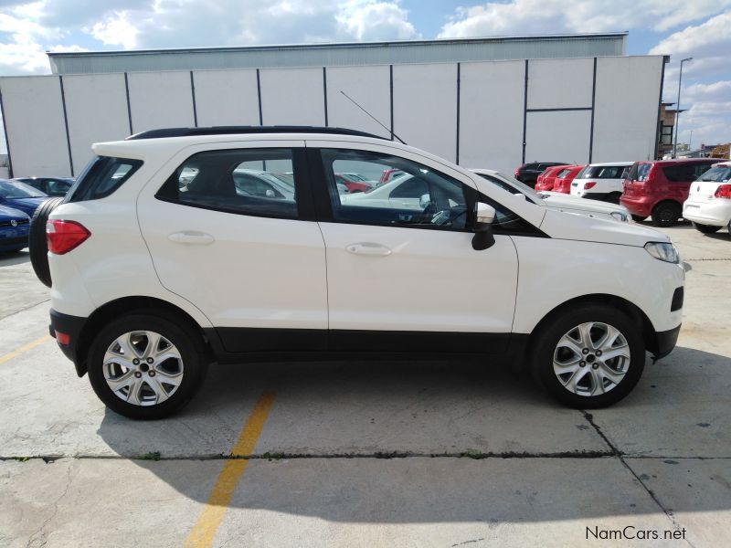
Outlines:
[{"label": "rear door window of the foreground white SUV", "polygon": [[185,160],[157,198],[252,216],[297,217],[290,149],[207,151]]}]

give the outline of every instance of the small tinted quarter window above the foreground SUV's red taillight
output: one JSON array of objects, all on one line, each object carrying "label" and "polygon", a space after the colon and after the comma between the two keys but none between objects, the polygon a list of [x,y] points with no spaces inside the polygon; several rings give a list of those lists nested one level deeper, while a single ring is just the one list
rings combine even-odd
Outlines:
[{"label": "small tinted quarter window above the foreground SUV's red taillight", "polygon": [[84,202],[106,198],[140,169],[142,160],[97,156],[79,174],[66,196],[66,202]]}]

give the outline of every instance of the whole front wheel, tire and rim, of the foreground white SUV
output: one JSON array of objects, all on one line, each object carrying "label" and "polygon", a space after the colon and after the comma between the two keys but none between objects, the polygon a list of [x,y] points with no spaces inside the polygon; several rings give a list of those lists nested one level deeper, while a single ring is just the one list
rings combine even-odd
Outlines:
[{"label": "whole front wheel, tire and rim, of the foreground white SUV", "polygon": [[626,314],[606,305],[563,311],[538,334],[535,376],[567,406],[615,404],[637,385],[644,369],[639,332]]}]

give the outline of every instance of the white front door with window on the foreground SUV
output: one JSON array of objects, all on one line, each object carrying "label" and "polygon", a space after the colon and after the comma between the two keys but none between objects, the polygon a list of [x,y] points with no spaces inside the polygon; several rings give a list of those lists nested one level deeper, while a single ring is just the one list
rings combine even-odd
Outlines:
[{"label": "white front door with window on the foreground SUV", "polygon": [[[327,250],[330,348],[503,351],[514,316],[517,253],[503,235],[492,248],[472,248],[471,181],[426,158],[332,144],[308,149],[311,164],[322,167],[313,174],[315,193],[327,196],[318,200],[326,204],[318,218]],[[406,198],[420,198],[418,209],[382,200],[377,191],[377,205],[367,204],[368,193],[341,202],[334,173],[374,179],[388,169],[408,174],[404,190],[413,187],[419,196]]]}]

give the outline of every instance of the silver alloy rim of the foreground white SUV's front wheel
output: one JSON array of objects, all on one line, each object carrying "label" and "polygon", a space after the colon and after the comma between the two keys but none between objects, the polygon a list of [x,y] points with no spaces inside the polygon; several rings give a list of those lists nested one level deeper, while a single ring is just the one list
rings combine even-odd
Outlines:
[{"label": "silver alloy rim of the foreground white SUV's front wheel", "polygon": [[577,325],[558,340],[554,373],[576,395],[601,395],[630,369],[630,344],[616,327],[599,321]]}]

